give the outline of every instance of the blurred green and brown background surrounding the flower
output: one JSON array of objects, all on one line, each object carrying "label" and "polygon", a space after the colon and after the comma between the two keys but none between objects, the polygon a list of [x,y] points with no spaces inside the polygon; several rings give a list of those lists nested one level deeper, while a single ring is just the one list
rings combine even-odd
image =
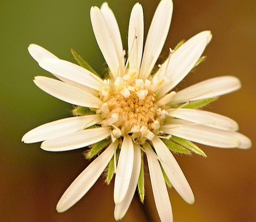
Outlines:
[{"label": "blurred green and brown background surrounding the flower", "polygon": [[[74,207],[57,213],[56,203],[73,179],[88,165],[85,149],[51,153],[40,144],[23,144],[22,135],[45,122],[70,116],[72,106],[38,89],[33,78],[50,76],[27,51],[39,44],[58,57],[75,62],[75,49],[98,72],[104,59],[90,24],[92,5],[101,0],[0,1],[0,221],[114,221],[113,183],[100,178]],[[129,14],[136,0],[109,0],[127,49]],[[147,33],[158,4],[141,0]],[[207,78],[235,75],[241,90],[220,97],[207,110],[235,119],[240,132],[255,141],[256,1],[174,0],[173,19],[163,54],[180,40],[209,29],[212,42],[207,60],[180,88]],[[161,60],[160,60],[161,61]],[[201,146],[208,155],[176,155],[195,194],[186,204],[169,190],[175,222],[256,221],[256,149],[220,149]],[[148,172],[145,203],[135,195],[123,221],[159,221]]]}]

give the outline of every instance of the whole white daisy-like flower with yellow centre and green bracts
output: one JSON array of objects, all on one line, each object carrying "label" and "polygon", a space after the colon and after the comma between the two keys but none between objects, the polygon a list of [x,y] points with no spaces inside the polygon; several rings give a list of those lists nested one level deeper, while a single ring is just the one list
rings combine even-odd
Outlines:
[{"label": "whole white daisy-like flower with yellow centre and green bracts", "polygon": [[151,75],[169,31],[172,10],[171,0],[160,1],[142,56],[144,17],[142,6],[135,4],[125,60],[112,10],[107,3],[101,9],[91,8],[93,31],[108,64],[109,78],[99,78],[92,70],[61,60],[40,46],[29,46],[31,56],[41,68],[59,79],[36,76],[35,84],[46,93],[78,106],[73,113],[80,116],[38,126],[27,132],[22,141],[43,141],[41,148],[47,151],[95,144],[88,154],[90,157],[104,150],[65,191],[57,204],[58,212],[79,201],[108,166],[108,183],[115,173],[114,216],[116,220],[123,218],[137,184],[143,201],[145,152],[158,214],[161,221],[172,221],[165,183],[172,184],[189,204],[194,203],[194,195],[170,150],[205,156],[191,141],[220,148],[251,146],[249,138],[236,132],[235,121],[197,109],[220,95],[238,90],[241,85],[236,77],[212,78],[173,91],[200,59],[212,38],[210,31],[200,32],[178,49],[170,50],[167,60]]}]

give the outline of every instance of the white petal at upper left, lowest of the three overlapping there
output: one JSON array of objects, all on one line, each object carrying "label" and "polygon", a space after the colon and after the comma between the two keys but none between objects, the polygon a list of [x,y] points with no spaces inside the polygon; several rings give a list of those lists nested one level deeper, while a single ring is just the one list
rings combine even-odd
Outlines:
[{"label": "white petal at upper left, lowest of the three overlapping there", "polygon": [[91,108],[101,107],[101,100],[98,97],[57,79],[36,76],[34,83],[41,90],[67,103]]}]

